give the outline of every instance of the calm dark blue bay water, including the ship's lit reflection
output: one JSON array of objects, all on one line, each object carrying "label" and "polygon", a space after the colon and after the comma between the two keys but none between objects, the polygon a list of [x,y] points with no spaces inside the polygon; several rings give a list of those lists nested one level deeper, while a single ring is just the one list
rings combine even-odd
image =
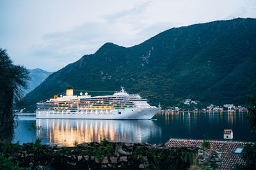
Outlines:
[{"label": "calm dark blue bay water, including the ship's lit reflection", "polygon": [[[223,129],[233,129],[234,140],[252,141],[246,112],[159,113],[155,120],[68,120],[19,116],[13,142],[41,138],[47,145],[72,146],[101,141],[166,143],[170,138],[223,139]],[[39,128],[38,128],[39,127]]]}]

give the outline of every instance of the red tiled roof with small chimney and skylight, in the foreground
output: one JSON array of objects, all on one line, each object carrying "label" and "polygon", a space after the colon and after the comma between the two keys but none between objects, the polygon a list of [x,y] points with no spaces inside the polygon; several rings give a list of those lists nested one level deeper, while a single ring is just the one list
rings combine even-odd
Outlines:
[{"label": "red tiled roof with small chimney and skylight, in the foreground", "polygon": [[[170,139],[166,146],[190,147],[201,145],[203,140],[194,139]],[[209,140],[211,148],[215,152],[221,153],[221,169],[234,169],[236,164],[244,164],[241,155],[234,154],[237,147],[244,147],[248,142],[241,141],[214,141]]]}]

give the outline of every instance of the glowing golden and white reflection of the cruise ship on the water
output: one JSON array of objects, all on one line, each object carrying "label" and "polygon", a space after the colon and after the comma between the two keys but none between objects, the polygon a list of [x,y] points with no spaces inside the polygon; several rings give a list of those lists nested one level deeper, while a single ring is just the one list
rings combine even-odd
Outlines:
[{"label": "glowing golden and white reflection of the cruise ship on the water", "polygon": [[152,134],[161,138],[161,128],[153,120],[37,119],[36,127],[36,138],[47,145],[74,146],[103,139],[145,143]]}]

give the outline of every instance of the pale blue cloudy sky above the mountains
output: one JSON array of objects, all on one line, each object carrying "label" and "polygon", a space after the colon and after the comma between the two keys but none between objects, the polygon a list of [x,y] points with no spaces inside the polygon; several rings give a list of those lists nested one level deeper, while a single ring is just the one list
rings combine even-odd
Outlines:
[{"label": "pale blue cloudy sky above the mountains", "polygon": [[134,46],[172,27],[256,18],[256,0],[1,0],[0,48],[14,64],[58,71],[104,43]]}]

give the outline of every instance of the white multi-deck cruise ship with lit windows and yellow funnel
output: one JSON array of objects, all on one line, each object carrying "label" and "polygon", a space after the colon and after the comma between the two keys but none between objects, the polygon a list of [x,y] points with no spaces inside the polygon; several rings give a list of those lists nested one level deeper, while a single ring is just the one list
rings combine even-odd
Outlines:
[{"label": "white multi-deck cruise ship with lit windows and yellow funnel", "polygon": [[140,95],[121,89],[113,95],[92,97],[87,92],[74,96],[73,89],[68,88],[66,96],[37,103],[36,118],[151,119],[161,110]]}]

